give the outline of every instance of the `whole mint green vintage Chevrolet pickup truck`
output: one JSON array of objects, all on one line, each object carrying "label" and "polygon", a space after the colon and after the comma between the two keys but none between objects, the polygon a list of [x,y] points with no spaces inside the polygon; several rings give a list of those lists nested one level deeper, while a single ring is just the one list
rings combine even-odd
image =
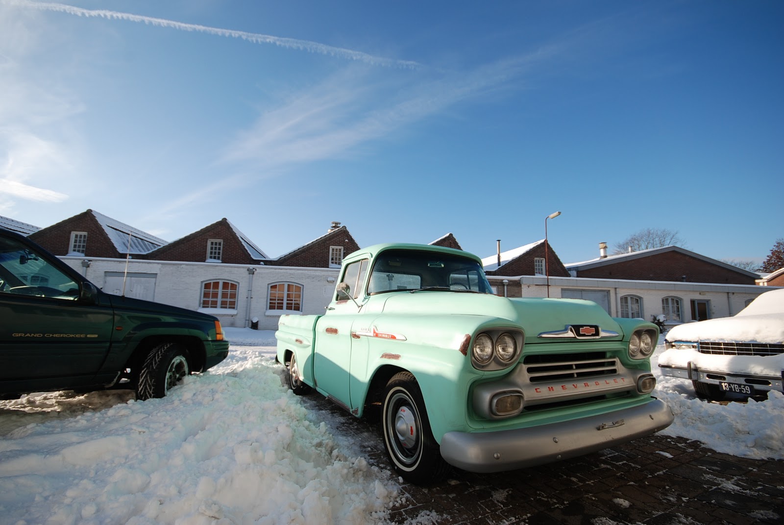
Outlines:
[{"label": "whole mint green vintage Chevrolet pickup truck", "polygon": [[481,259],[381,244],[343,261],[325,315],[283,315],[277,359],[298,395],[380,411],[391,464],[412,483],[448,465],[499,472],[666,428],[652,397],[659,330],[591,301],[496,296]]}]

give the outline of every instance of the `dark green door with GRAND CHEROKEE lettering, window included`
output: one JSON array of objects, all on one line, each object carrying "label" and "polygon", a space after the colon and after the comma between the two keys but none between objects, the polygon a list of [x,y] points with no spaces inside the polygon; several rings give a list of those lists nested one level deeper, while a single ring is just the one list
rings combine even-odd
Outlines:
[{"label": "dark green door with GRAND CHEROKEE lettering, window included", "polygon": [[0,380],[34,387],[47,377],[96,374],[113,314],[109,306],[82,303],[80,292],[34,245],[0,234]]}]

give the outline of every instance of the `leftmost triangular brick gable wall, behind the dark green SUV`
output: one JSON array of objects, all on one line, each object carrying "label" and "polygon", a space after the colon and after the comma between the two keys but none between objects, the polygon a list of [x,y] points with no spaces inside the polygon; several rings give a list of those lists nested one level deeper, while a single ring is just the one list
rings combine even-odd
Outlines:
[{"label": "leftmost triangular brick gable wall, behind the dark green SUV", "polygon": [[31,233],[29,238],[55,255],[67,255],[71,250],[71,232],[87,232],[85,257],[120,257],[90,210]]}]

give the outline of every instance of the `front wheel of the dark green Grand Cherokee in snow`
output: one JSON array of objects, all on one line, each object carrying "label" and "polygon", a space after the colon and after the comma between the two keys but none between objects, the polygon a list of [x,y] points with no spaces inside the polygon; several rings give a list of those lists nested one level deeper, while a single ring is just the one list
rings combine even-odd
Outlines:
[{"label": "front wheel of the dark green Grand Cherokee in snow", "polygon": [[136,399],[143,401],[164,397],[169,388],[191,374],[187,350],[175,343],[163,343],[152,349],[144,359],[136,384]]}]

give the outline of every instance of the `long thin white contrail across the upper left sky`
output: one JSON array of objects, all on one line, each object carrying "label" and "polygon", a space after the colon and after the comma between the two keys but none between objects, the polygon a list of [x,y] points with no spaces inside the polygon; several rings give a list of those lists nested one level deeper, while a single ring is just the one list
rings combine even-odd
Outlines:
[{"label": "long thin white contrail across the upper left sky", "polygon": [[301,51],[307,51],[308,53],[319,53],[321,55],[345,58],[347,60],[360,60],[361,62],[379,66],[406,68],[421,67],[421,64],[412,60],[397,60],[392,58],[375,57],[373,55],[368,55],[368,53],[354,51],[353,49],[326,46],[325,44],[320,44],[318,42],[310,42],[310,40],[299,40],[297,38],[281,38],[277,36],[261,35],[259,33],[246,33],[245,31],[221,29],[220,27],[208,27],[198,24],[183,24],[182,22],[165,20],[164,18],[133,15],[130,13],[119,13],[117,11],[107,11],[106,9],[82,9],[81,7],[74,7],[73,5],[57,4],[53,2],[2,0],[0,3],[4,3],[5,5],[17,5],[20,7],[31,7],[34,9],[40,9],[42,11],[56,11],[58,13],[67,13],[69,15],[97,16],[109,20],[127,20],[129,22],[139,22],[159,27],[169,27],[172,29],[178,29],[180,31],[198,31],[200,33],[207,33],[208,35],[242,38],[243,40],[253,42],[254,44],[274,44],[275,46],[289,49],[299,49]]}]

